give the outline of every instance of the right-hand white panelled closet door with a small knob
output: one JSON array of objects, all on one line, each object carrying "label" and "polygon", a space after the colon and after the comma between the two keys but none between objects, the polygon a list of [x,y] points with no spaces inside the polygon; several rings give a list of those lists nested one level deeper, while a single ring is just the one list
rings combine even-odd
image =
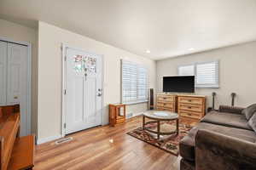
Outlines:
[{"label": "right-hand white panelled closet door with a small knob", "polygon": [[30,133],[30,117],[27,115],[27,60],[26,46],[8,43],[7,105],[20,104],[20,136]]}]

